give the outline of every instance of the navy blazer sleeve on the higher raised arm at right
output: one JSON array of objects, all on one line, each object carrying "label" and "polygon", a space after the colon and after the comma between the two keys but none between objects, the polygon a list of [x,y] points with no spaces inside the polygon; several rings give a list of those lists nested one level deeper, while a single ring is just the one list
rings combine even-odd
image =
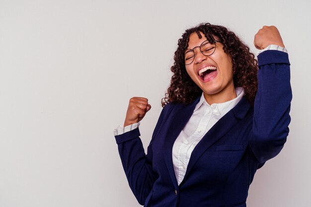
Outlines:
[{"label": "navy blazer sleeve on the higher raised arm at right", "polygon": [[258,90],[249,144],[259,163],[283,148],[291,121],[292,100],[288,54],[269,50],[258,56]]}]

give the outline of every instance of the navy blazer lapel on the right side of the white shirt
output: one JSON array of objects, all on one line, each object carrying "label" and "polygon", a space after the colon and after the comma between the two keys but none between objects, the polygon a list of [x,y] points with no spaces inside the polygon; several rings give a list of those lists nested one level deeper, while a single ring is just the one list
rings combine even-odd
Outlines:
[{"label": "navy blazer lapel on the right side of the white shirt", "polygon": [[[225,116],[223,116],[201,139],[191,153],[191,157],[188,163],[186,174],[183,181],[187,178],[192,167],[195,165],[200,156],[217,140],[222,138],[226,133],[238,122],[239,119],[245,117],[250,105],[245,97],[230,110]],[[181,184],[183,183],[181,182]]]}]

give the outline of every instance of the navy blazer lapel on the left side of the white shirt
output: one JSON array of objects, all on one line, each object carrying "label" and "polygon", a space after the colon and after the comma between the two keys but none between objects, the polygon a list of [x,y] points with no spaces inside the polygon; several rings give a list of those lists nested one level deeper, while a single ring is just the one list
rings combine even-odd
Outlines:
[{"label": "navy blazer lapel on the left side of the white shirt", "polygon": [[[172,160],[172,149],[173,144],[180,134],[181,130],[184,128],[188,120],[190,119],[191,115],[193,114],[193,110],[196,104],[199,102],[200,97],[197,98],[193,103],[189,105],[177,105],[174,109],[174,112],[171,113],[171,116],[168,118],[166,123],[168,126],[165,127],[166,132],[164,132],[165,140],[164,140],[164,158],[165,163],[170,175],[170,178],[175,186],[178,187],[175,171],[173,167],[173,160]],[[178,108],[177,108],[178,107]],[[177,109],[176,109],[177,108]]]}]

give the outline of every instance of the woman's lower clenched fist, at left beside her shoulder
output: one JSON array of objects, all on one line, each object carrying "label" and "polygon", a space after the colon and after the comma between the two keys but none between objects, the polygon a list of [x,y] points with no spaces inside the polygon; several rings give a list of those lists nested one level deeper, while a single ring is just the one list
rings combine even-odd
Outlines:
[{"label": "woman's lower clenched fist, at left beside her shoulder", "polygon": [[126,112],[124,127],[140,122],[150,109],[151,105],[148,104],[147,98],[131,98]]}]

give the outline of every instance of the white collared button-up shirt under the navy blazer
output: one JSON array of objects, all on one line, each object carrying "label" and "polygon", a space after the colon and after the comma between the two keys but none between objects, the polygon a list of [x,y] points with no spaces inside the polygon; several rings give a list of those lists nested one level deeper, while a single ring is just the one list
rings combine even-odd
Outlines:
[{"label": "white collared button-up shirt under the navy blazer", "polygon": [[235,88],[237,97],[225,103],[209,105],[202,93],[192,116],[173,145],[172,159],[178,185],[183,180],[191,153],[204,135],[242,99],[244,90]]}]

